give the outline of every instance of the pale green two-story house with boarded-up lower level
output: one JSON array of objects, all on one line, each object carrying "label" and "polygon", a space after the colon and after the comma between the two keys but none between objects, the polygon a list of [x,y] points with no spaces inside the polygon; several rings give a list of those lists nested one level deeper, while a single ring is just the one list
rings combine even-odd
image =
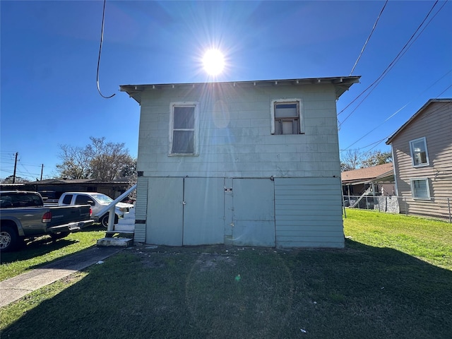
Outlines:
[{"label": "pale green two-story house with boarded-up lower level", "polygon": [[134,240],[343,247],[335,102],[357,82],[120,86],[141,105]]}]

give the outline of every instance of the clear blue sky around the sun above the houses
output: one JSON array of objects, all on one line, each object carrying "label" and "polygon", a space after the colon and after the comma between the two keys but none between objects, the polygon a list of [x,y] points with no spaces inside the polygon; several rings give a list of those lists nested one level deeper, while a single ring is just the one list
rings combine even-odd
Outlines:
[{"label": "clear blue sky around the sun above the houses", "polygon": [[[227,61],[215,81],[349,76],[385,2],[107,0],[99,80],[116,95],[105,99],[103,1],[0,1],[0,177],[17,152],[19,177],[35,180],[44,165],[52,178],[59,145],[90,136],[136,156],[140,107],[119,85],[212,81],[201,66],[210,47]],[[427,100],[452,97],[452,3],[434,5],[386,4],[352,73],[361,82],[337,102],[341,150],[390,150],[384,141]]]}]

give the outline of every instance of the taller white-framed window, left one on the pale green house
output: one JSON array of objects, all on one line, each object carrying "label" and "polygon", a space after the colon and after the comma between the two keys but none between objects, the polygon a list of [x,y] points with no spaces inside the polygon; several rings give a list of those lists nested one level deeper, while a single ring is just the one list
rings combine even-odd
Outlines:
[{"label": "taller white-framed window, left one on the pale green house", "polygon": [[169,126],[170,155],[196,155],[196,102],[172,103]]}]

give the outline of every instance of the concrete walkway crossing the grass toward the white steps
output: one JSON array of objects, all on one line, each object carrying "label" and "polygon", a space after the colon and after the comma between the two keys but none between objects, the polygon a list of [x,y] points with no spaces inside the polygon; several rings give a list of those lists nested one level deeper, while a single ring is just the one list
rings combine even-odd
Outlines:
[{"label": "concrete walkway crossing the grass toward the white steps", "polygon": [[85,249],[84,251],[68,256],[67,258],[42,266],[42,268],[30,270],[27,273],[1,281],[0,307],[11,304],[11,302],[15,302],[32,291],[52,284],[78,270],[83,270],[83,268],[87,268],[113,254],[117,254],[123,249],[124,247],[114,246],[97,246]]}]

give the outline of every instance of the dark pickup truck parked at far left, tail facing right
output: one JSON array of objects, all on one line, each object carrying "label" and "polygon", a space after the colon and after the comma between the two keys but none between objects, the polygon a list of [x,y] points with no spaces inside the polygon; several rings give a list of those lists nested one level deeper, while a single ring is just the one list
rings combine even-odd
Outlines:
[{"label": "dark pickup truck parked at far left, tail facing right", "polygon": [[44,234],[66,237],[93,222],[89,205],[45,207],[37,192],[0,191],[0,251]]}]

